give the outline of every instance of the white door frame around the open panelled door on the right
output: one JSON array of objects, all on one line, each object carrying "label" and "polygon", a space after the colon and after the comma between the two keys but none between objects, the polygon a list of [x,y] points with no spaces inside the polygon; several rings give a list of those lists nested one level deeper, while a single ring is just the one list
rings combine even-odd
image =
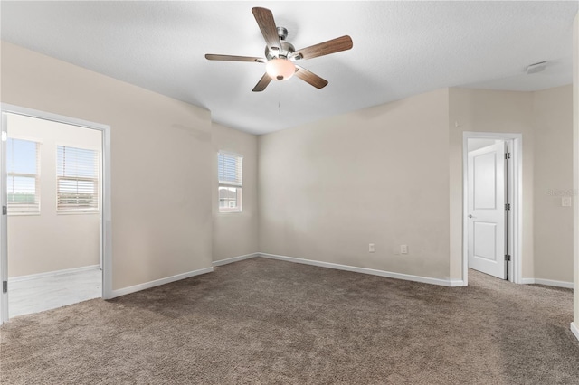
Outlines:
[{"label": "white door frame around the open panelled door on the right", "polygon": [[[498,139],[510,141],[509,148],[511,167],[509,169],[508,202],[511,204],[509,216],[509,248],[507,252],[511,256],[508,266],[508,280],[516,284],[522,283],[522,246],[523,246],[523,134],[507,134],[496,132],[472,132],[462,133],[462,280],[464,286],[469,284],[469,221],[467,218],[468,208],[468,179],[467,163],[469,159],[469,139]],[[510,252],[509,252],[510,251]]]}]

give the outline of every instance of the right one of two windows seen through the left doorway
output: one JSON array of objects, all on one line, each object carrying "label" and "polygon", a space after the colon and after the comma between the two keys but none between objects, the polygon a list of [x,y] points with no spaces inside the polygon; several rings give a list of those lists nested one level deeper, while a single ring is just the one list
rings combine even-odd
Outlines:
[{"label": "right one of two windows seen through the left doorway", "polygon": [[99,153],[84,148],[57,146],[58,211],[99,210]]}]

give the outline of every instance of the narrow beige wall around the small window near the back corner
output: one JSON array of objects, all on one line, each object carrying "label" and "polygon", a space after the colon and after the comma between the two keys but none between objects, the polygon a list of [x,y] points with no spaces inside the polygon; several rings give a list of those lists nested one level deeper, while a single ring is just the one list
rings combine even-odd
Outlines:
[{"label": "narrow beige wall around the small window near the back corner", "polygon": [[[213,124],[212,209],[214,261],[253,254],[258,250],[257,136]],[[217,153],[243,156],[242,212],[219,212]]]}]

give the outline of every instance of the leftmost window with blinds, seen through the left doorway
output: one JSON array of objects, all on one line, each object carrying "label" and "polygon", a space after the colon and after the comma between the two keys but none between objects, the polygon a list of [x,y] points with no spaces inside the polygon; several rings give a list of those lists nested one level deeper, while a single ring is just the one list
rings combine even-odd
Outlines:
[{"label": "leftmost window with blinds, seen through the left doorway", "polygon": [[9,214],[40,212],[40,143],[8,138],[6,183]]}]

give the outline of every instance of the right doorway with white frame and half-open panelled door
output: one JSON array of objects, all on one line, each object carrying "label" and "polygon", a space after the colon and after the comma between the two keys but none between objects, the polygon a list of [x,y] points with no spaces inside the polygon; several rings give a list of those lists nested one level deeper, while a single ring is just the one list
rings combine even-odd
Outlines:
[{"label": "right doorway with white frame and half-open panelled door", "polygon": [[463,135],[463,272],[521,281],[522,134]]}]

